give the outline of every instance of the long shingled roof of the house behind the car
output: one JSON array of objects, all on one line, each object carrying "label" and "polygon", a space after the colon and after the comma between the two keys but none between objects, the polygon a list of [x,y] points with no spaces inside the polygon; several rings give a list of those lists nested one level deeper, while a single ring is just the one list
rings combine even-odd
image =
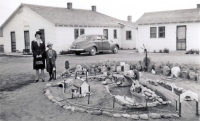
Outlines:
[{"label": "long shingled roof of the house behind the car", "polygon": [[[121,22],[122,24],[125,23],[122,20],[92,10],[74,8],[67,9],[61,7],[49,7],[31,4],[23,5],[30,8],[55,25],[121,27],[121,25],[115,21]],[[133,25],[133,23],[130,22],[128,25]]]}]

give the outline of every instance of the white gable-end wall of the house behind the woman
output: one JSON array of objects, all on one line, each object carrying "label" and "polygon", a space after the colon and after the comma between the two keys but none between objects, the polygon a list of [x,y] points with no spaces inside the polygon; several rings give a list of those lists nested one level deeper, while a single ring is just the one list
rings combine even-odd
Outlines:
[{"label": "white gable-end wall of the house behind the woman", "polygon": [[39,29],[45,30],[45,42],[54,42],[55,26],[42,18],[32,10],[22,7],[18,12],[3,28],[4,35],[4,51],[11,52],[11,37],[10,32],[14,31],[16,35],[16,50],[22,51],[25,48],[24,44],[24,31],[29,31],[30,36],[30,47],[31,41],[35,39],[35,32]]}]

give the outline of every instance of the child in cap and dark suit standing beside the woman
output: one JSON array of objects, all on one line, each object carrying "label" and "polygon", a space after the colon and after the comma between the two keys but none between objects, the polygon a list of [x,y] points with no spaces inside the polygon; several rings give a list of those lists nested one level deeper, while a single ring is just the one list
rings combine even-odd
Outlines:
[{"label": "child in cap and dark suit standing beside the woman", "polygon": [[52,49],[52,46],[53,44],[49,42],[47,43],[48,50],[46,51],[46,70],[49,72],[49,81],[53,79],[53,71],[56,71],[57,53]]}]

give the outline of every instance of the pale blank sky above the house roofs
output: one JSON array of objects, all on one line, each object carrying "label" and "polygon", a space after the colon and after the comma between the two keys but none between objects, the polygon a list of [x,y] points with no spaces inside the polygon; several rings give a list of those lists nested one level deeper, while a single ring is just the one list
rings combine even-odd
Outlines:
[{"label": "pale blank sky above the house roofs", "polygon": [[68,2],[76,9],[90,10],[95,5],[98,12],[121,20],[130,15],[133,22],[145,12],[191,9],[200,4],[200,0],[0,0],[0,25],[21,3],[67,7]]}]

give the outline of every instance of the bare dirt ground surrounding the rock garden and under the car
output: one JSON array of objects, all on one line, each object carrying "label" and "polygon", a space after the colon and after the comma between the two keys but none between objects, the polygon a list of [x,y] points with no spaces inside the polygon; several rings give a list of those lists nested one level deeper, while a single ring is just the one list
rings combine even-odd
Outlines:
[{"label": "bare dirt ground surrounding the rock garden and under the car", "polygon": [[[84,62],[96,62],[105,60],[142,60],[144,54],[121,51],[119,54],[89,55],[63,55],[57,60],[57,73],[64,70],[64,62],[68,60],[71,65]],[[149,57],[155,62],[189,63],[200,65],[199,55],[185,55],[182,52],[170,54],[150,53]],[[45,73],[45,80],[48,74]],[[35,71],[32,70],[32,57],[0,57],[0,121],[130,121],[125,118],[111,118],[95,116],[86,113],[71,113],[63,108],[53,105],[43,93],[46,82],[32,83],[35,79]],[[181,80],[175,82],[191,91],[200,92],[200,84],[194,81]],[[195,105],[194,105],[195,106]],[[186,107],[187,108],[187,107]],[[190,111],[190,110],[189,110]],[[189,121],[185,118],[166,119],[166,121]],[[163,119],[162,119],[163,120]],[[192,118],[198,120],[198,117]],[[156,120],[159,121],[159,120]]]}]

